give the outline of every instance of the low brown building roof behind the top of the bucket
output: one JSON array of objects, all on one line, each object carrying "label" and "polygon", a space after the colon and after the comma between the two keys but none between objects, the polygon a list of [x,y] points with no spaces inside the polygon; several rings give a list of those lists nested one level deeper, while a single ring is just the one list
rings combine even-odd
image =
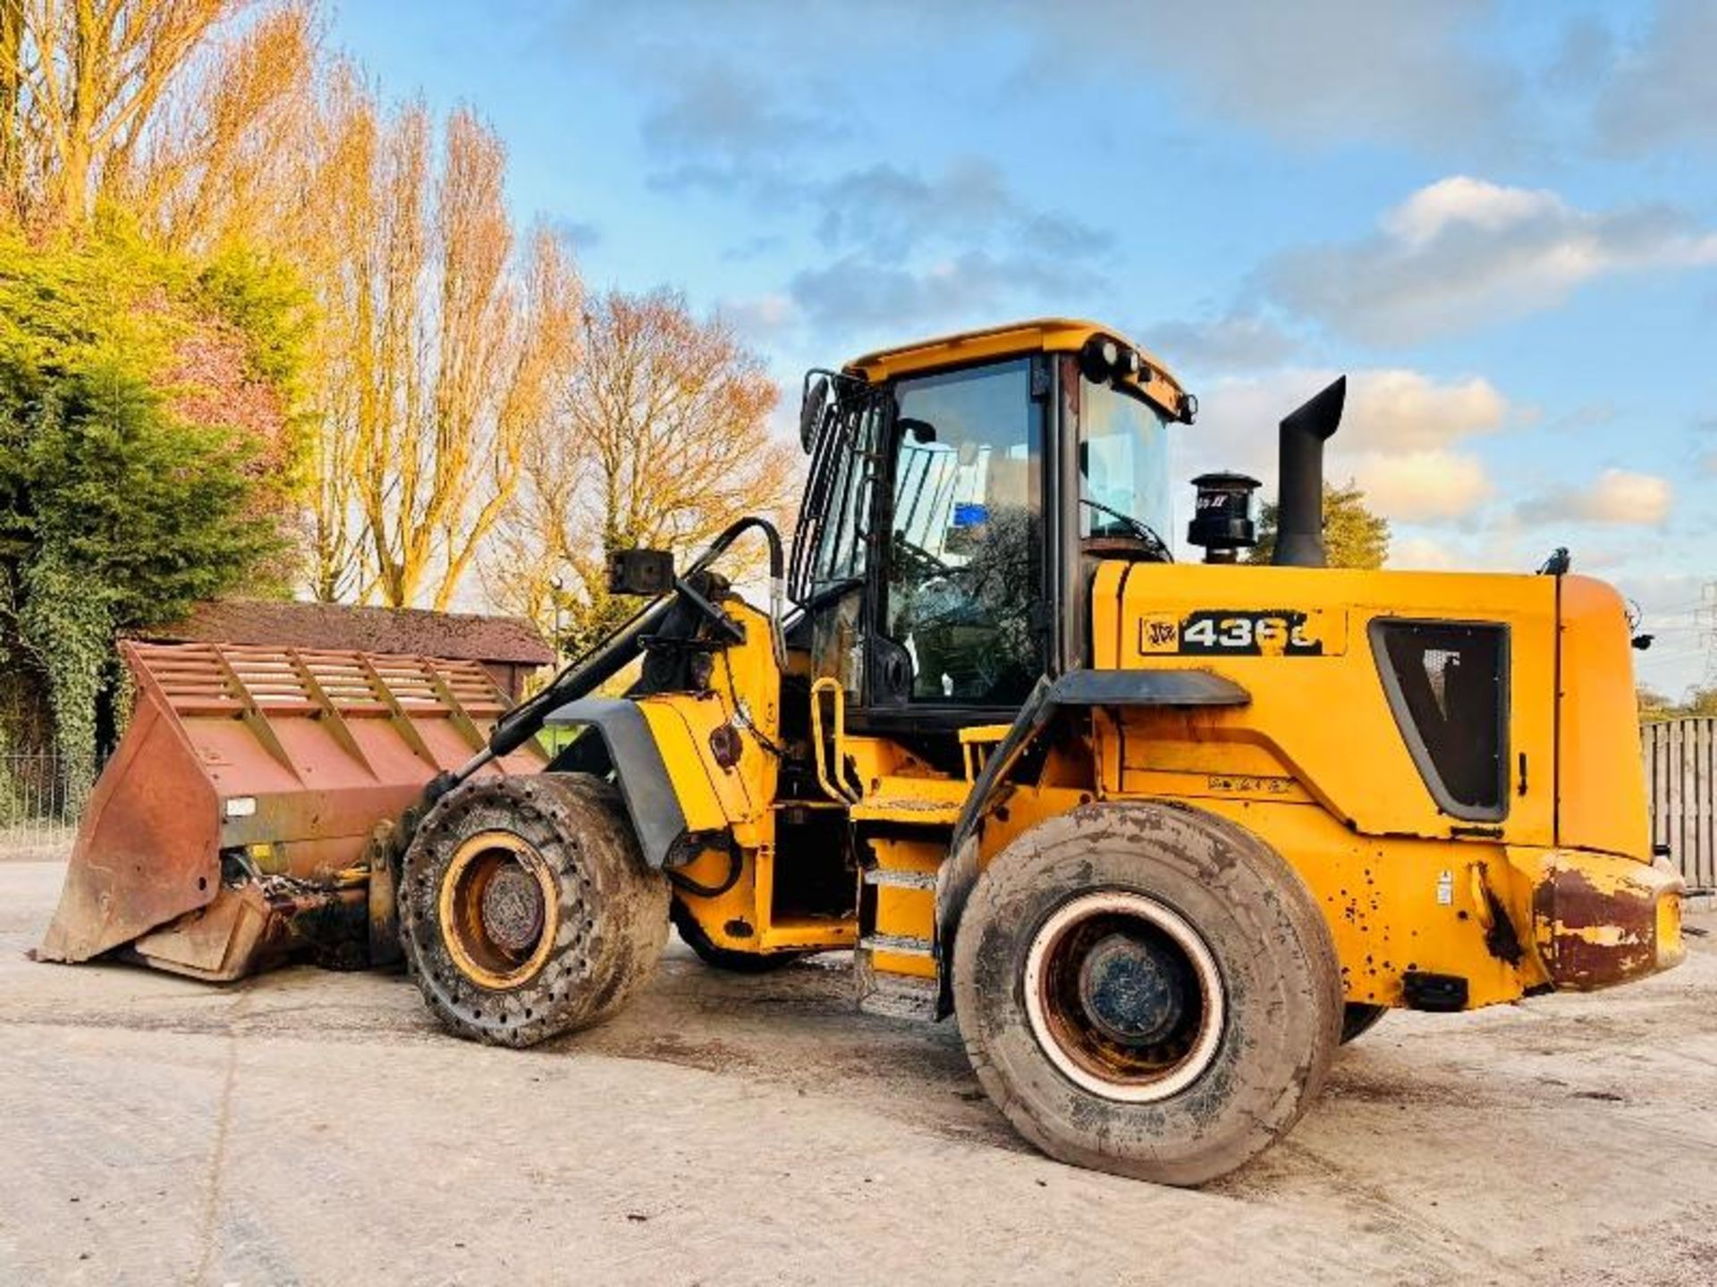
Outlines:
[{"label": "low brown building roof behind the top of the bucket", "polygon": [[197,604],[184,621],[134,633],[163,644],[403,652],[515,666],[546,666],[555,661],[555,650],[524,618],[429,613],[419,607],[216,599]]}]

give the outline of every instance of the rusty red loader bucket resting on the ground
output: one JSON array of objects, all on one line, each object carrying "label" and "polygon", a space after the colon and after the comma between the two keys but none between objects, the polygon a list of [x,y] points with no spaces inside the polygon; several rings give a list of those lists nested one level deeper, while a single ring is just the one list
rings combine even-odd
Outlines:
[{"label": "rusty red loader bucket resting on the ground", "polygon": [[[125,947],[211,980],[311,946],[361,964],[379,855],[507,700],[474,661],[220,644],[120,645],[130,726],[101,772],[38,959]],[[484,772],[541,772],[534,743]]]}]

